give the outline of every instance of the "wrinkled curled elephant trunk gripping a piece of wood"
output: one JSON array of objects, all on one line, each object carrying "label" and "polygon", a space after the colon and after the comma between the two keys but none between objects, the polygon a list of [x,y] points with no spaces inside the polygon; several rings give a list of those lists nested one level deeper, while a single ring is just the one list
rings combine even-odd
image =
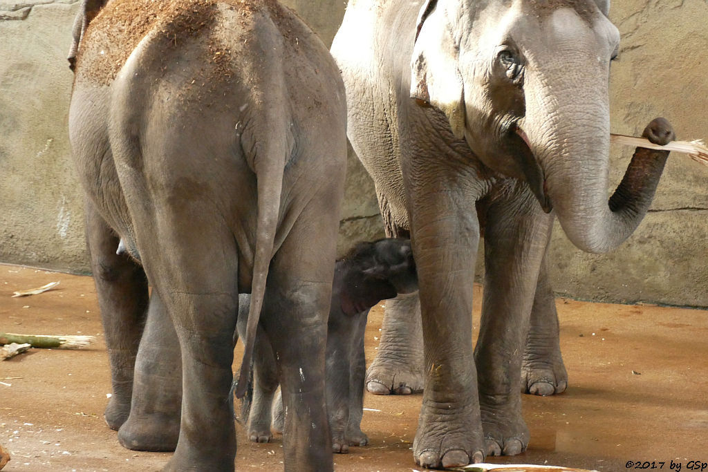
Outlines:
[{"label": "wrinkled curled elephant trunk gripping a piece of wood", "polygon": [[[554,93],[554,110],[547,110],[540,124],[530,127],[539,132],[527,138],[544,170],[544,190],[566,235],[591,253],[611,251],[639,226],[668,157],[668,151],[637,148],[622,182],[607,199],[610,117],[607,84],[600,85],[588,93]],[[568,98],[568,103],[559,103],[558,97]],[[532,113],[527,115],[527,122],[533,119]],[[673,139],[666,120],[652,122],[645,129],[646,137],[652,129],[662,134],[651,137],[660,144]]]}]

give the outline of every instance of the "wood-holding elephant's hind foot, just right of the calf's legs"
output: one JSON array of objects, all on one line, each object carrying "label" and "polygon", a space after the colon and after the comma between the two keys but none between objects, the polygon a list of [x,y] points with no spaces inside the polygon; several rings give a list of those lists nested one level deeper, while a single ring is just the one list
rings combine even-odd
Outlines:
[{"label": "wood-holding elephant's hind foot, just right of the calf's legs", "polygon": [[[410,395],[423,391],[423,359],[395,359],[379,352],[366,372],[366,389],[375,395]],[[406,362],[410,361],[410,362]]]}]

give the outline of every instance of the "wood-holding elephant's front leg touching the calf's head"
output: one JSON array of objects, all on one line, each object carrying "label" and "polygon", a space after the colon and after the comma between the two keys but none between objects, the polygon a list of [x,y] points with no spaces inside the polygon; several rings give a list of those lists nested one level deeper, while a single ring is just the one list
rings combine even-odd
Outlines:
[{"label": "wood-holding elephant's front leg touching the calf's head", "polygon": [[[472,280],[479,224],[457,176],[414,183],[411,241],[418,267],[426,384],[413,442],[423,467],[484,460],[472,352]],[[452,189],[452,190],[451,190]]]}]

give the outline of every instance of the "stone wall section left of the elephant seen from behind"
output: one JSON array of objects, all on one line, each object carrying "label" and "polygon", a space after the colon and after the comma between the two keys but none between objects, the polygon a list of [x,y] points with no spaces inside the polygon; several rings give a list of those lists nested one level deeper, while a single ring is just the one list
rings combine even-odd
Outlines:
[{"label": "stone wall section left of the elephant seen from behind", "polygon": [[69,159],[78,4],[0,0],[0,261],[85,272],[83,203]]}]

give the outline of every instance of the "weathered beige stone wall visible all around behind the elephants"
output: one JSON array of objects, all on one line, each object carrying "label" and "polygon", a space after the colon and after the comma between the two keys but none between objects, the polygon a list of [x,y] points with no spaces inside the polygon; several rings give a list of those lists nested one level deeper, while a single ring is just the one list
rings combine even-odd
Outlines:
[{"label": "weathered beige stone wall visible all around behind the elephants", "polygon": [[[343,0],[284,0],[329,45]],[[88,269],[81,192],[69,159],[65,59],[76,2],[0,0],[0,261]],[[639,134],[663,115],[680,139],[708,138],[706,0],[615,1],[612,130]],[[631,150],[613,149],[619,182]],[[382,234],[373,185],[350,152],[340,252]],[[708,169],[671,157],[652,210],[608,255],[578,251],[556,228],[549,254],[561,294],[708,306]],[[610,191],[612,189],[608,189]]]}]

